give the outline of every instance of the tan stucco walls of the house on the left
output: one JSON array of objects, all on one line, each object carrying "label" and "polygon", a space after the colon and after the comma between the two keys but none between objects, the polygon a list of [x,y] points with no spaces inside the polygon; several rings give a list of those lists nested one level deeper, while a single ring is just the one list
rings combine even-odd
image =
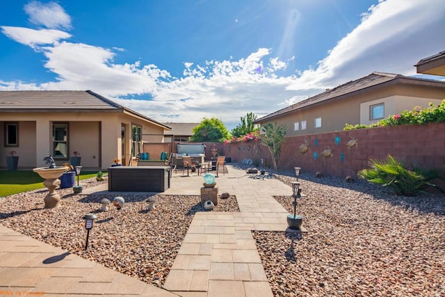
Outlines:
[{"label": "tan stucco walls of the house on the left", "polygon": [[[69,156],[81,154],[81,166],[86,169],[106,169],[114,159],[129,162],[131,155],[131,127],[142,127],[143,141],[163,142],[164,128],[143,117],[126,112],[66,112],[66,113],[1,113],[0,139],[4,139],[4,123],[18,122],[19,145],[1,145],[0,156],[8,156],[14,150],[19,156],[19,169],[45,166],[43,158],[53,152],[52,125],[66,123]],[[122,145],[122,125],[125,126]],[[124,152],[122,152],[124,150]],[[124,158],[123,158],[124,157]],[[69,163],[67,159],[56,159],[57,165]],[[0,168],[6,168],[6,158],[0,158]]]}]

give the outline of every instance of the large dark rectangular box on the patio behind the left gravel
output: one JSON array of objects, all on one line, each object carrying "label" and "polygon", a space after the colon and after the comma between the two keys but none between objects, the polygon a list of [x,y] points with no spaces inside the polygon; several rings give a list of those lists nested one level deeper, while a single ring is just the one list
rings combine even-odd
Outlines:
[{"label": "large dark rectangular box on the patio behind the left gravel", "polygon": [[108,191],[163,192],[170,188],[170,166],[108,168]]}]

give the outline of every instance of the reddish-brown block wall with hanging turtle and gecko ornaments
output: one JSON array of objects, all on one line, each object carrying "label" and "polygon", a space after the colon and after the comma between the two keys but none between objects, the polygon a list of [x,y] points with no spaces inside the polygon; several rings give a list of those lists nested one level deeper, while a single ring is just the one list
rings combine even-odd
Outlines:
[{"label": "reddish-brown block wall with hanging turtle and gecko ornaments", "polygon": [[[357,146],[348,148],[346,143],[357,140]],[[309,143],[309,150],[300,154],[300,145]],[[270,152],[265,145],[255,147],[250,143],[206,143],[206,157],[210,159],[213,145],[219,154],[230,156],[232,162],[243,159],[259,160],[258,167],[272,168]],[[332,156],[323,158],[327,147]],[[257,150],[259,148],[259,150]],[[207,152],[209,151],[209,152]],[[401,125],[378,127],[352,131],[336,131],[286,138],[282,144],[279,169],[302,168],[305,172],[323,172],[323,175],[357,177],[357,171],[368,168],[370,159],[385,159],[388,154],[405,162],[407,166],[416,164],[422,168],[435,168],[445,175],[445,123],[427,125]],[[263,165],[261,166],[261,159]]]}]

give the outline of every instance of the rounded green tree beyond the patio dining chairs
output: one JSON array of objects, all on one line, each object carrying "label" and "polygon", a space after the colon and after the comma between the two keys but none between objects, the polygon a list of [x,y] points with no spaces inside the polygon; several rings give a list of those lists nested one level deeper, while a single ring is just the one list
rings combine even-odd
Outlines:
[{"label": "rounded green tree beyond the patio dining chairs", "polygon": [[192,141],[223,142],[229,138],[229,131],[224,123],[217,118],[204,118],[200,125],[193,128]]}]

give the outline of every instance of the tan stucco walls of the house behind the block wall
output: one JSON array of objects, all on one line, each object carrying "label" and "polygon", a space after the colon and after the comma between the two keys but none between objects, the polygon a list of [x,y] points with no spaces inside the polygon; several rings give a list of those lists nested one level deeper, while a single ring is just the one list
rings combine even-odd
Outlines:
[{"label": "tan stucco walls of the house behind the block wall", "polygon": [[[259,119],[258,122],[261,125],[266,122],[285,125],[286,136],[343,131],[346,123],[369,125],[378,122],[370,120],[370,106],[373,104],[384,104],[386,118],[404,110],[412,110],[415,106],[427,107],[430,102],[439,105],[442,99],[445,99],[445,84],[437,87],[428,83],[390,83],[388,86],[363,89],[316,102],[264,121]],[[321,118],[321,127],[315,127],[316,118]],[[302,129],[302,121],[306,121],[306,129]],[[296,122],[299,128],[297,131]]]}]

